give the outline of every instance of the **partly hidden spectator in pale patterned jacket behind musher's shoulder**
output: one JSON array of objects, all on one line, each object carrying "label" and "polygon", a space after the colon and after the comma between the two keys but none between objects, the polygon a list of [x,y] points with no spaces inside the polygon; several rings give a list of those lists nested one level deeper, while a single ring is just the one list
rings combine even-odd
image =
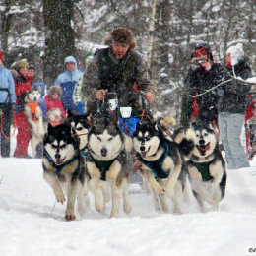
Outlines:
[{"label": "partly hidden spectator in pale patterned jacket behind musher's shoulder", "polygon": [[[88,56],[86,59],[86,67],[92,61],[93,56]],[[78,83],[75,85],[74,93],[73,93],[73,101],[77,105],[78,111],[80,114],[85,114],[87,112],[87,99],[85,96],[82,96],[82,83],[83,83],[83,75],[80,77]]]}]

